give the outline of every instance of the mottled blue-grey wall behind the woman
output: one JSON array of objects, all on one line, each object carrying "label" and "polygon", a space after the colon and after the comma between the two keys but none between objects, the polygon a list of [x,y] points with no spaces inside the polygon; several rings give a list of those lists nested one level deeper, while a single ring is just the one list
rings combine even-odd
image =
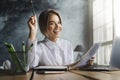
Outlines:
[{"label": "mottled blue-grey wall behind the woman", "polygon": [[[33,0],[37,17],[48,8],[60,12],[63,20],[61,37],[69,40],[73,48],[77,44],[88,45],[88,0]],[[27,21],[32,16],[30,0],[0,1],[0,65],[10,59],[4,42],[12,43],[16,50],[21,49],[22,41],[27,40],[29,28]],[[38,30],[39,31],[39,30]],[[41,34],[38,39],[43,39]],[[71,39],[72,36],[72,39]]]}]

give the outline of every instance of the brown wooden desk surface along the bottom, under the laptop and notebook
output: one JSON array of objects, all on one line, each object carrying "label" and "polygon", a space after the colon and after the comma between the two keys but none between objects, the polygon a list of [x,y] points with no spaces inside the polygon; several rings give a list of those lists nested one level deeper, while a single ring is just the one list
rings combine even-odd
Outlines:
[{"label": "brown wooden desk surface along the bottom, under the laptop and notebook", "polygon": [[[25,75],[0,75],[0,80],[30,80],[32,72]],[[94,72],[71,70],[63,74],[34,74],[33,80],[119,80],[120,71]]]}]

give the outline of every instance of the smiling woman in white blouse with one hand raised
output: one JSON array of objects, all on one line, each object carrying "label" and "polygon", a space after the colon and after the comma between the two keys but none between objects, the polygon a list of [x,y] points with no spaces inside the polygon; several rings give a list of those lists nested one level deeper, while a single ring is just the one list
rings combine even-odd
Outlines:
[{"label": "smiling woman in white blouse with one hand raised", "polygon": [[28,47],[33,48],[28,52],[28,66],[33,68],[38,65],[68,65],[73,62],[73,48],[69,41],[60,39],[62,21],[59,13],[53,9],[43,11],[39,16],[39,28],[45,36],[43,41],[37,42],[37,20],[32,16],[28,21],[30,33]]}]

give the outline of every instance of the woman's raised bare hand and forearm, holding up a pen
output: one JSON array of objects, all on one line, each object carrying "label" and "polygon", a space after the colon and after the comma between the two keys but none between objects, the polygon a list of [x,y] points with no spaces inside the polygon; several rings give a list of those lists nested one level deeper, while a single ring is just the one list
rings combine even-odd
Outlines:
[{"label": "woman's raised bare hand and forearm, holding up a pen", "polygon": [[30,19],[28,20],[28,26],[29,26],[29,29],[30,29],[29,39],[31,39],[32,41],[34,41],[34,40],[36,40],[37,29],[38,29],[38,24],[37,24],[37,18],[36,18],[36,16],[30,17]]}]

